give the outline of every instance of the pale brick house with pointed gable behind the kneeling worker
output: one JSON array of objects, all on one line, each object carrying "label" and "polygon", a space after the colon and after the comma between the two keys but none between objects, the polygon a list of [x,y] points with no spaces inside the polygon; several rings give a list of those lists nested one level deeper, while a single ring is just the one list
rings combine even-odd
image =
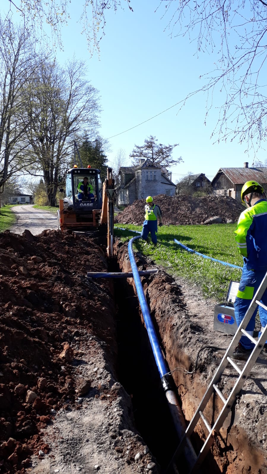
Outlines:
[{"label": "pale brick house with pointed gable behind the kneeling worker", "polygon": [[138,166],[122,166],[119,170],[118,204],[127,206],[146,196],[174,196],[175,184],[167,170],[148,158],[140,158]]}]

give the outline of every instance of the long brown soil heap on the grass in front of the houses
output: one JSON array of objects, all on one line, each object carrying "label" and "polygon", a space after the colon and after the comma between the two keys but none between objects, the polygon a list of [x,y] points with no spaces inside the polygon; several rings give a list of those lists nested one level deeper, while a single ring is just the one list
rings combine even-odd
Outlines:
[{"label": "long brown soil heap on the grass in front of the houses", "polygon": [[[229,196],[154,196],[154,203],[162,211],[163,224],[187,225],[204,224],[207,219],[220,217],[222,223],[237,222],[240,213],[245,209],[241,202]],[[143,224],[145,199],[134,201],[133,204],[120,212],[115,222],[121,224]]]}]

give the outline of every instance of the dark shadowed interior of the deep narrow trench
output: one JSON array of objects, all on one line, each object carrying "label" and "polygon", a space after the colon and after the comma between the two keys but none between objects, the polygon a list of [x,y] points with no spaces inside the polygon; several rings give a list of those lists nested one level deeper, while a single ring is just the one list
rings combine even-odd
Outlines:
[{"label": "dark shadowed interior of the deep narrow trench", "polygon": [[[117,264],[110,271],[118,272]],[[162,389],[147,331],[139,314],[138,297],[126,279],[114,279],[117,305],[117,375],[131,396],[135,427],[161,467],[162,473],[179,444]],[[172,474],[172,470],[168,470]]]}]

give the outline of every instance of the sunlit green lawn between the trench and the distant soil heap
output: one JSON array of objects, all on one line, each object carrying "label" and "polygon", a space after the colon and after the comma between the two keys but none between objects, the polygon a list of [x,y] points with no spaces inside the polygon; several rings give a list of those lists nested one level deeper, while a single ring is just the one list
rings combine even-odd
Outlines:
[{"label": "sunlit green lawn between the trench and the distant soil heap", "polygon": [[[119,224],[117,225],[119,227]],[[123,225],[125,231],[116,229],[115,235],[127,241],[134,237],[131,230],[142,230],[142,226]],[[241,270],[225,266],[210,259],[192,254],[181,248],[173,239],[191,249],[229,264],[243,266],[234,239],[236,224],[212,224],[210,226],[162,226],[158,228],[158,246],[144,246],[138,239],[134,246],[143,255],[148,255],[157,264],[162,264],[168,273],[185,277],[201,286],[205,297],[218,301],[226,298],[230,280],[239,281]]]}]

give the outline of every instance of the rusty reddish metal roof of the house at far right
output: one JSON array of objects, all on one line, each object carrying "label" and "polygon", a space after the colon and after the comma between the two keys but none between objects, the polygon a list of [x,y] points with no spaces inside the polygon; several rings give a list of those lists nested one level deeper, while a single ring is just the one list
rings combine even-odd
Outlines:
[{"label": "rusty reddish metal roof of the house at far right", "polygon": [[220,168],[212,182],[219,173],[224,173],[234,184],[244,184],[246,181],[267,183],[267,168]]}]

